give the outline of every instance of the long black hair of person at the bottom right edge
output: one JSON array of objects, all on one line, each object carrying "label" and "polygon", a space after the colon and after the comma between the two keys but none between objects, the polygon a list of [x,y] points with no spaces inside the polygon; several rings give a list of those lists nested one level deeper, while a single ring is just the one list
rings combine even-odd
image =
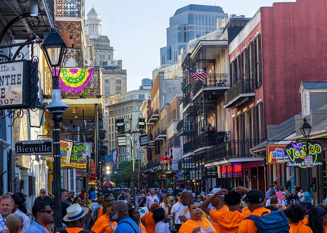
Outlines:
[{"label": "long black hair of person at the bottom right edge", "polygon": [[327,208],[314,207],[309,212],[309,223],[313,233],[327,233]]}]

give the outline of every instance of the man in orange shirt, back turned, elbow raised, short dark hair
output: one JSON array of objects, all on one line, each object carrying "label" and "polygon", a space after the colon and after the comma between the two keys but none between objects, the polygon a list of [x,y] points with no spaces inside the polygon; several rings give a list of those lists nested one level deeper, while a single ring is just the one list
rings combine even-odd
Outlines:
[{"label": "man in orange shirt, back turned, elbow raised, short dark hair", "polygon": [[[209,203],[218,195],[225,194],[226,206],[229,208],[228,212],[219,212],[219,210],[214,210],[208,208]],[[210,215],[211,221],[217,223],[221,232],[232,232],[237,233],[238,226],[241,222],[251,214],[250,211],[245,211],[243,213],[239,212],[239,205],[241,202],[241,194],[239,192],[229,191],[223,189],[213,196],[209,197],[201,204],[201,209]]]}]

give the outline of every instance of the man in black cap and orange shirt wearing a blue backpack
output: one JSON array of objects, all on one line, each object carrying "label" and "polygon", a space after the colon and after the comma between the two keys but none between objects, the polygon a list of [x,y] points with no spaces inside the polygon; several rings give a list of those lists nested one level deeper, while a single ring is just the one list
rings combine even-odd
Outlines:
[{"label": "man in black cap and orange shirt wearing a blue backpack", "polygon": [[[252,189],[249,191],[241,186],[235,189],[236,192],[248,192],[242,201],[245,201],[251,211],[250,215],[262,216],[263,213],[270,214],[271,210],[265,208],[265,198],[261,191]],[[257,233],[257,227],[252,219],[244,219],[238,227],[238,233]]]}]

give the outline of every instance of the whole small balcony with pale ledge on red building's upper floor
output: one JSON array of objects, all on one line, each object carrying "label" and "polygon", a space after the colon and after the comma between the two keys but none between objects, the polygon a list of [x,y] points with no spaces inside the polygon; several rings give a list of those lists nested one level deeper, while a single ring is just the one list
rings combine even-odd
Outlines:
[{"label": "whole small balcony with pale ledge on red building's upper floor", "polygon": [[224,108],[235,107],[249,100],[249,96],[254,96],[254,79],[242,79],[225,92]]}]

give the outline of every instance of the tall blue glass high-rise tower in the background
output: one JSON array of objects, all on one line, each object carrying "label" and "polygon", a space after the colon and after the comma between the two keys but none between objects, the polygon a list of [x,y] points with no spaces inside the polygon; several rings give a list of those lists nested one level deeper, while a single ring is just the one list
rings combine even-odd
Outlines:
[{"label": "tall blue glass high-rise tower in the background", "polygon": [[228,18],[221,7],[190,4],[179,8],[169,18],[167,46],[160,48],[160,65],[178,61],[187,42],[216,30],[217,19]]}]

